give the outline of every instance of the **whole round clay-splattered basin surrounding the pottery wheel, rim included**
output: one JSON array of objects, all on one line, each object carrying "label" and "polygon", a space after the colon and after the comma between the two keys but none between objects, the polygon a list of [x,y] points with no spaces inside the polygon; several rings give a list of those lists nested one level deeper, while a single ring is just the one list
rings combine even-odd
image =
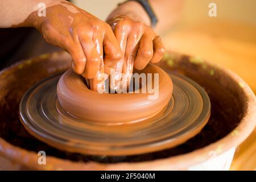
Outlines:
[{"label": "whole round clay-splattered basin surrounding the pottery wheel, rim included", "polygon": [[[19,101],[36,82],[67,70],[70,60],[58,52],[0,72],[0,169],[228,169],[236,147],[255,127],[256,98],[240,77],[207,61],[168,53],[159,66],[192,78],[209,95],[210,119],[199,134],[175,148],[143,155],[86,156],[57,150],[24,129]],[[38,164],[39,151],[46,152],[46,165]]]}]

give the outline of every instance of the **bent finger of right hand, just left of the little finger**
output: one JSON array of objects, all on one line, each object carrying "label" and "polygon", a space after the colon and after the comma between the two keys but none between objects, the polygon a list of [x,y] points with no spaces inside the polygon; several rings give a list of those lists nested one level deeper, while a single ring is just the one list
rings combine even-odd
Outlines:
[{"label": "bent finger of right hand, just left of the little finger", "polygon": [[154,34],[146,33],[142,36],[139,42],[137,56],[134,60],[134,68],[142,70],[150,62],[153,57],[153,42]]}]

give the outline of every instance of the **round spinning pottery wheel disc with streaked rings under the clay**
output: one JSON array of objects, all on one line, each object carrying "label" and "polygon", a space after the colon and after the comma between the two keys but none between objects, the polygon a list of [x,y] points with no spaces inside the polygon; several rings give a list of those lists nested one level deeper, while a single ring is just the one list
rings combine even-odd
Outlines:
[{"label": "round spinning pottery wheel disc with streaked rings under the clay", "polygon": [[[72,74],[68,71],[64,76],[68,73]],[[32,86],[24,94],[19,109],[24,127],[39,140],[60,150],[110,156],[164,150],[195,136],[210,116],[210,101],[204,89],[187,77],[170,74],[174,85],[172,96],[166,94],[166,105],[150,117],[113,123],[97,122],[97,117],[93,121],[77,117],[64,109],[63,98],[58,100],[63,93],[58,91],[57,96],[57,84],[64,77],[61,75]],[[81,77],[76,79],[82,82]]]}]

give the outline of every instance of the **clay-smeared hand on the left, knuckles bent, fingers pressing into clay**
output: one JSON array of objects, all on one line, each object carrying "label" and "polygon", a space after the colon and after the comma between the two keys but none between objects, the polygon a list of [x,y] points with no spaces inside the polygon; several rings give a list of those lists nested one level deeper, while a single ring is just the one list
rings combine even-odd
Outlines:
[{"label": "clay-smeared hand on the left, knuckles bent, fingers pressing into clay", "polygon": [[61,1],[47,7],[46,17],[35,20],[48,43],[73,57],[73,70],[85,78],[109,73],[122,58],[122,51],[109,24],[72,3]]}]

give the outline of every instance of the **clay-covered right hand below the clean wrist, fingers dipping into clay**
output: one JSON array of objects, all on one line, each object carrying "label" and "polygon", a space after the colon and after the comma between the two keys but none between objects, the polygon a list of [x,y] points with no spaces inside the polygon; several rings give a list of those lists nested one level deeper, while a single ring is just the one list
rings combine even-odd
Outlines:
[{"label": "clay-covered right hand below the clean wrist, fingers dipping into clay", "polygon": [[124,56],[115,66],[115,72],[127,75],[126,80],[133,68],[142,70],[148,63],[158,63],[165,53],[160,37],[138,19],[120,15],[108,20]]}]

